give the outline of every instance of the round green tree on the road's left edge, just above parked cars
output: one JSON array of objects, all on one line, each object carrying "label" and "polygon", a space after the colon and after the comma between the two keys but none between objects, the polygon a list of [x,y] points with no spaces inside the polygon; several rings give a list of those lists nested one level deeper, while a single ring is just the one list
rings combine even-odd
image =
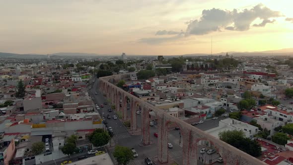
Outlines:
[{"label": "round green tree on the road's left edge, just above parked cars", "polygon": [[94,147],[101,147],[109,143],[111,137],[107,131],[103,129],[95,129],[95,131],[89,136],[90,142]]}]

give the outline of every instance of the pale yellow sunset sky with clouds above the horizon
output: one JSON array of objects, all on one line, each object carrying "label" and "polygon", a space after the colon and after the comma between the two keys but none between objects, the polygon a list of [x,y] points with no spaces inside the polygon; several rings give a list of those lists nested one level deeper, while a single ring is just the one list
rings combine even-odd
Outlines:
[{"label": "pale yellow sunset sky with clouds above the horizon", "polygon": [[181,55],[293,47],[293,0],[0,0],[0,52]]}]

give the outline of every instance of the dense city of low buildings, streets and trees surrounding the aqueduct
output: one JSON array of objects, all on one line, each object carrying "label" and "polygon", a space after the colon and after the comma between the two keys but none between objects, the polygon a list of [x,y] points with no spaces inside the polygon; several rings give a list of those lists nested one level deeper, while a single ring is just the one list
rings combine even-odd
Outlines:
[{"label": "dense city of low buildings, streets and trees surrounding the aqueduct", "polygon": [[[145,111],[133,98],[101,84],[104,77],[119,76],[108,82],[251,158],[288,164],[293,153],[292,64],[290,56],[228,53],[1,58],[1,162],[160,164],[157,111]],[[164,127],[172,165],[186,164],[182,127],[175,122]],[[193,150],[198,165],[228,164],[214,142],[199,140]]]}]

